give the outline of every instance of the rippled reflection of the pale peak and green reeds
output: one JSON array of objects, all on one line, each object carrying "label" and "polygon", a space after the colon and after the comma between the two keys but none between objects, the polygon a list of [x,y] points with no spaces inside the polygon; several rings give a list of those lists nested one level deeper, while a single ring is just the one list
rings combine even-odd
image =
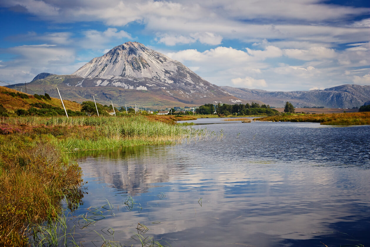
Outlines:
[{"label": "rippled reflection of the pale peak and green reeds", "polygon": [[[139,146],[89,153],[80,163],[85,176],[99,178],[132,196],[148,191],[151,184],[167,182],[170,176],[186,174],[186,162],[179,161],[168,148]],[[76,157],[84,157],[80,152]],[[88,162],[93,159],[94,162]],[[171,159],[174,161],[171,162]]]}]

